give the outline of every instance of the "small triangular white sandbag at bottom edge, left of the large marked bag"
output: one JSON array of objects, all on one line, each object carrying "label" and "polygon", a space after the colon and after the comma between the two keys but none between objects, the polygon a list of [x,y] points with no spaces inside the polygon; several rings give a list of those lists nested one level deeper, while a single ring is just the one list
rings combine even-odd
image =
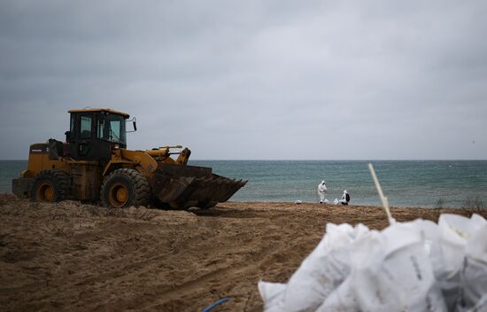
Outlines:
[{"label": "small triangular white sandbag at bottom edge, left of the large marked bag", "polygon": [[352,278],[347,277],[344,283],[331,292],[316,312],[360,312],[359,302],[354,292]]}]

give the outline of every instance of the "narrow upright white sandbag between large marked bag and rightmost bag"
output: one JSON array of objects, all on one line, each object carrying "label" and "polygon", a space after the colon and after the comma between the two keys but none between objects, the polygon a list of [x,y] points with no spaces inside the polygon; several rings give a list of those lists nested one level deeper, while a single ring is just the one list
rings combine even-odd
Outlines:
[{"label": "narrow upright white sandbag between large marked bag and rightmost bag", "polygon": [[440,215],[439,238],[432,246],[430,260],[449,311],[455,310],[460,296],[460,269],[465,259],[465,246],[475,231],[486,223],[478,214],[470,218],[458,214]]}]

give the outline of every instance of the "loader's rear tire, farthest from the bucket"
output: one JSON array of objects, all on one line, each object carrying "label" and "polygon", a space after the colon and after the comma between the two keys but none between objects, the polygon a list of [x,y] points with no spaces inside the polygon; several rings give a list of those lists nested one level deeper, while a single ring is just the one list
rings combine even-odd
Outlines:
[{"label": "loader's rear tire, farthest from the bucket", "polygon": [[35,177],[30,199],[39,202],[57,202],[69,198],[69,175],[58,169],[44,170]]}]

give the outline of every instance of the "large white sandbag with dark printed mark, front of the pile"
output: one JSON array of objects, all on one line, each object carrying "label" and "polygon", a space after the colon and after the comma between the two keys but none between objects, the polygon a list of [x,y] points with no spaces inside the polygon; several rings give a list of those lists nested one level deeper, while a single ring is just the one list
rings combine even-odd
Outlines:
[{"label": "large white sandbag with dark printed mark, front of the pile", "polygon": [[370,237],[353,249],[352,259],[360,310],[445,311],[421,230],[414,223],[396,223]]}]

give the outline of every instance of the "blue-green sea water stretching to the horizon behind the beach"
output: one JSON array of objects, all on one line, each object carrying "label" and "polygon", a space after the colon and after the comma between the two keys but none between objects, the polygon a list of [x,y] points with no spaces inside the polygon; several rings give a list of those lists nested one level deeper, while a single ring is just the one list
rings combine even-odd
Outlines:
[{"label": "blue-green sea water stretching to the horizon behind the beach", "polygon": [[[487,160],[190,160],[213,173],[249,182],[236,201],[317,202],[325,180],[329,201],[346,189],[351,204],[380,205],[367,164],[372,162],[390,206],[463,207],[467,199],[487,204]],[[12,178],[27,160],[0,160],[0,192],[12,191]]]}]

